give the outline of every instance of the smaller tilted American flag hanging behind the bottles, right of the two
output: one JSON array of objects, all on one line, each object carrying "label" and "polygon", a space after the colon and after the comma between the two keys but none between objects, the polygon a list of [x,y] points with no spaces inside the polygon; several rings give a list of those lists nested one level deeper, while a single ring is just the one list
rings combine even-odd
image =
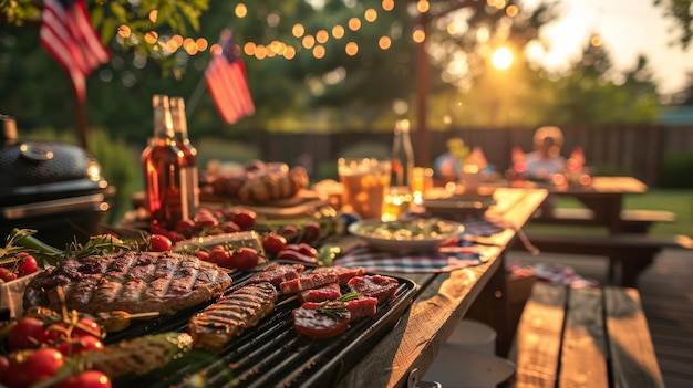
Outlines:
[{"label": "smaller tilted American flag hanging behind the bottles, right of the two", "polygon": [[221,31],[221,52],[214,53],[205,70],[205,82],[226,124],[234,124],[255,113],[246,80],[246,67],[236,53],[231,30]]}]

